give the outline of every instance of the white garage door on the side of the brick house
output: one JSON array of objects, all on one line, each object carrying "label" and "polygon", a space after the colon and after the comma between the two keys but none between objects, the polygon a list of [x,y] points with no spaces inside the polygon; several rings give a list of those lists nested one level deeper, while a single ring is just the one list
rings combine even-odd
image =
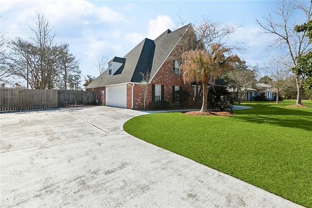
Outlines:
[{"label": "white garage door on the side of the brick house", "polygon": [[106,106],[127,108],[127,85],[106,87]]}]

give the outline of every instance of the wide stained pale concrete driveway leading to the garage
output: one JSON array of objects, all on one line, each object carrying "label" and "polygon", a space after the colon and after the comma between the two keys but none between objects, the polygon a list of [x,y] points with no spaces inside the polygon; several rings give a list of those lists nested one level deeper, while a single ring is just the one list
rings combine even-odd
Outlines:
[{"label": "wide stained pale concrete driveway leading to the garage", "polygon": [[0,114],[1,207],[299,207],[123,131],[143,114]]}]

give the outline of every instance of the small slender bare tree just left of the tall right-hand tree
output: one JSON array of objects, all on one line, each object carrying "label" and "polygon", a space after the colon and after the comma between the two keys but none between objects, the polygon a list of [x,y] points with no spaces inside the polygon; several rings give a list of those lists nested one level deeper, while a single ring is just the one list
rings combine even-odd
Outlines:
[{"label": "small slender bare tree just left of the tall right-hand tree", "polygon": [[272,85],[276,92],[276,104],[279,103],[279,94],[286,88],[290,81],[291,70],[285,64],[271,59],[264,65],[264,73],[271,78],[268,84]]}]

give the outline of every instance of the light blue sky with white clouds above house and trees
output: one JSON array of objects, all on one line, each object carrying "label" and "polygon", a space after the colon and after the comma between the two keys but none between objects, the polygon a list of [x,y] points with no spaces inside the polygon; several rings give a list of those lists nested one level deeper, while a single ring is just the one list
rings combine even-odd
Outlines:
[{"label": "light blue sky with white clouds above house and trees", "polygon": [[[9,38],[34,36],[37,12],[44,15],[56,32],[57,42],[69,44],[86,77],[99,76],[93,60],[102,56],[123,57],[144,38],[156,39],[165,30],[184,24],[198,24],[204,18],[240,25],[229,43],[242,42],[247,48],[237,54],[249,64],[263,65],[269,58],[270,36],[259,36],[262,20],[273,11],[275,0],[1,0],[1,33]],[[270,52],[271,54],[274,51]],[[82,77],[83,78],[83,77]]]}]

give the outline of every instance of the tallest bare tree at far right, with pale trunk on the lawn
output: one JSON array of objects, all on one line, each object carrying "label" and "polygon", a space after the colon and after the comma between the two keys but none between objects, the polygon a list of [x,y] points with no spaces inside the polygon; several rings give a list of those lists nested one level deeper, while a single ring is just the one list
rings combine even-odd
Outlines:
[{"label": "tallest bare tree at far right, with pale trunk on the lawn", "polygon": [[[280,56],[284,64],[288,64],[291,60],[289,68],[296,68],[296,57],[306,54],[312,49],[311,42],[306,37],[306,32],[297,33],[293,30],[295,25],[301,24],[296,16],[300,13],[305,18],[301,17],[300,21],[308,22],[312,16],[312,1],[298,0],[279,0],[276,2],[275,10],[263,16],[257,23],[263,29],[260,34],[271,35],[275,40],[269,45],[271,49],[282,49],[284,54]],[[302,84],[307,79],[298,71],[293,71],[296,77],[297,100],[296,104],[301,104],[302,100]]]}]

